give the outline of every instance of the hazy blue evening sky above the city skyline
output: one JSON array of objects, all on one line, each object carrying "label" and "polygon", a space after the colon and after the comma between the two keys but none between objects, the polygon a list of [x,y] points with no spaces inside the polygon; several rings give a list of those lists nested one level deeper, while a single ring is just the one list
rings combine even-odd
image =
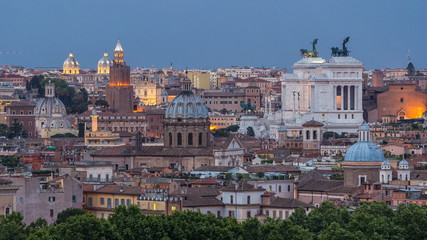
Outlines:
[{"label": "hazy blue evening sky above the city skyline", "polygon": [[0,0],[0,64],[95,69],[118,39],[135,67],[291,69],[318,38],[366,69],[427,68],[425,0]]}]

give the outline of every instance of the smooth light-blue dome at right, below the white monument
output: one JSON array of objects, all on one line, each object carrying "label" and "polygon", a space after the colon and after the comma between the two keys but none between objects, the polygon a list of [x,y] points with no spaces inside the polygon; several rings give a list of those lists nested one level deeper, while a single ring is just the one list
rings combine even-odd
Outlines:
[{"label": "smooth light-blue dome at right, below the white monument", "polygon": [[346,162],[383,162],[385,160],[381,149],[369,141],[359,141],[351,146],[345,154]]}]

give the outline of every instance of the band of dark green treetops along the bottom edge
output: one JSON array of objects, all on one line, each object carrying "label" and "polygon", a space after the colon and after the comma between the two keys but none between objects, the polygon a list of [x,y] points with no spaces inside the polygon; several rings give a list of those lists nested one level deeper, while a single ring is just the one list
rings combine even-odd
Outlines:
[{"label": "band of dark green treetops along the bottom edge", "polygon": [[19,213],[0,216],[2,239],[427,239],[427,206],[363,204],[353,213],[324,203],[309,214],[300,208],[288,220],[250,218],[239,223],[198,212],[144,215],[135,207],[117,208],[108,219],[66,210],[66,218],[47,226],[22,223]]}]

